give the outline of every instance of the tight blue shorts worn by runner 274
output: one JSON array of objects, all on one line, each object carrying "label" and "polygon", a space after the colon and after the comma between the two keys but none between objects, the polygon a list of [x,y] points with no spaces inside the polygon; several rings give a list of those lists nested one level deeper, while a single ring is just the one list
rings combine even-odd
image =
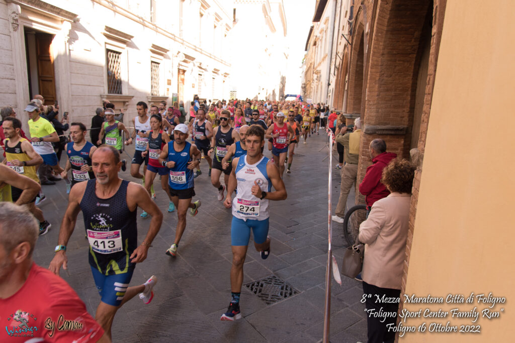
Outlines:
[{"label": "tight blue shorts worn by runner 274", "polygon": [[233,215],[231,222],[231,245],[249,245],[250,230],[252,230],[254,235],[254,242],[256,244],[263,244],[266,242],[269,226],[269,218],[265,220],[247,219],[244,221]]}]

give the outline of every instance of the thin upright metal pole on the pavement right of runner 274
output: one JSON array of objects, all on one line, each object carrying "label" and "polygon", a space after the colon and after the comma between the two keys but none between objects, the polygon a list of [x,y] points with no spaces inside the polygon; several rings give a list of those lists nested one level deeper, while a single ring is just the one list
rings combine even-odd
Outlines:
[{"label": "thin upright metal pole on the pavement right of runner 274", "polygon": [[[330,129],[328,130],[329,140],[332,143],[334,134]],[[331,188],[332,188],[332,161],[333,161],[333,149],[332,146],[329,146],[329,173],[328,173],[328,215],[327,215],[327,226],[328,226],[328,249],[327,249],[327,268],[325,269],[325,301],[324,301],[324,311],[323,311],[323,343],[329,343],[329,329],[330,329],[330,317],[331,317],[331,279],[332,279],[332,259],[333,259],[333,250],[331,247],[331,239],[333,233],[332,221],[331,221]]]}]

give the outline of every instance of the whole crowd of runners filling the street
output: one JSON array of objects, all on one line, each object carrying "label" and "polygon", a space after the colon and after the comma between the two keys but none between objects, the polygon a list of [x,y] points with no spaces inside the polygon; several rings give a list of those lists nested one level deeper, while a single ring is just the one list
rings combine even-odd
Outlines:
[{"label": "whole crowd of runners filling the street", "polygon": [[[166,103],[148,109],[148,105],[140,101],[136,104],[138,115],[126,127],[116,120],[113,106],[106,106],[96,111],[97,116],[105,119],[100,121],[98,128],[93,128],[98,132],[91,134],[95,137],[92,142],[87,140],[85,123],[68,124],[66,118],[60,121],[67,125],[63,129],[69,130],[70,140],[62,147],[66,153],[63,163],[54,146],[64,136],[58,134],[53,125],[59,109],[57,106],[49,109],[52,106],[43,103],[44,99],[36,96],[25,108],[30,118],[28,136],[31,138],[22,131],[22,122],[10,107],[2,110],[4,137],[1,138],[5,158],[0,165],[0,201],[15,205],[0,206],[0,216],[16,213],[25,233],[11,235],[13,237],[6,243],[10,228],[0,222],[3,243],[0,244],[0,257],[6,257],[0,267],[0,305],[10,305],[13,297],[28,296],[23,285],[29,280],[44,290],[47,287],[43,287],[43,283],[59,284],[58,288],[62,289],[60,295],[51,291],[50,294],[39,292],[47,302],[44,306],[37,301],[32,305],[27,303],[27,309],[32,312],[34,306],[40,306],[38,311],[52,312],[48,304],[59,302],[58,296],[64,297],[63,294],[81,303],[73,290],[63,286],[54,274],[59,275],[61,267],[67,268],[68,240],[82,211],[85,238],[90,246],[89,264],[101,300],[95,314],[96,322],[88,317],[83,304],[71,306],[66,314],[83,318],[83,330],[74,331],[82,337],[78,341],[109,341],[113,319],[120,306],[136,295],[149,303],[153,286],[158,281],[152,276],[144,284],[129,286],[135,265],[146,259],[163,219],[162,204],[156,203],[153,182],[159,175],[161,189],[169,199],[167,211],[177,212],[175,239],[163,251],[174,258],[186,228],[188,212],[191,216],[199,213],[201,201],[193,201],[195,178],[202,174],[200,165],[207,163],[208,177],[216,188],[213,196],[222,202],[220,205],[232,209],[231,299],[227,312],[220,319],[241,318],[239,298],[250,232],[255,249],[262,259],[267,259],[271,251],[269,201],[286,199],[284,170],[287,174],[294,172],[291,166],[295,147],[301,141],[306,144],[311,135],[319,134],[321,126],[325,127],[329,111],[323,105],[300,101],[230,100],[208,105],[196,100],[192,102],[189,118],[185,118],[182,103],[181,107],[176,103],[166,110]],[[49,120],[49,116],[53,116],[53,120]],[[141,180],[139,183],[119,176],[119,171],[126,169],[126,161],[122,158],[124,145],[132,144],[134,155],[130,175]],[[264,156],[265,149],[270,151],[271,159]],[[45,169],[50,170],[50,174],[46,174],[45,182],[41,182]],[[41,185],[55,184],[61,179],[69,198],[48,271],[34,264],[31,255],[37,235],[46,234],[50,228],[39,208],[46,200]],[[39,222],[39,228],[33,217],[16,205],[26,205],[28,212]],[[143,210],[143,218],[150,218],[142,242],[138,242],[136,227],[138,207]],[[13,284],[17,286],[13,287]],[[40,325],[41,332],[36,336],[29,330],[27,318],[14,317],[10,326],[14,333],[26,335],[24,337],[39,337],[50,330],[43,321],[38,322],[45,320],[44,316],[32,318],[36,320],[33,326]],[[52,318],[52,314],[48,318]]]}]

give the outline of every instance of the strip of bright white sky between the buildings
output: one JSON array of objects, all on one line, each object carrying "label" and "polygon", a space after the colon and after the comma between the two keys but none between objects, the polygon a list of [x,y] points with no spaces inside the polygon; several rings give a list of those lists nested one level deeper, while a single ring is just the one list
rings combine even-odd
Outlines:
[{"label": "strip of bright white sky between the buildings", "polygon": [[302,59],[305,54],[307,33],[313,25],[315,3],[315,0],[283,0],[289,47],[284,94],[300,94]]}]

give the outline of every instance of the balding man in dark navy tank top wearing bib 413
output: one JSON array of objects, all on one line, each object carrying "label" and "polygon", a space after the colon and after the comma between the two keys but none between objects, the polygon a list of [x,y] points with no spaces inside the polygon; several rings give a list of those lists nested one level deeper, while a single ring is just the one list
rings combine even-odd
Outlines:
[{"label": "balding man in dark navy tank top wearing bib 413", "polygon": [[[56,255],[49,269],[59,275],[61,266],[67,268],[66,244],[82,210],[90,243],[89,262],[101,297],[95,319],[111,338],[114,315],[123,303],[138,293],[145,303],[152,300],[152,287],[157,282],[155,276],[139,286],[129,287],[129,282],[135,264],[146,259],[148,248],[161,227],[163,214],[141,185],[118,177],[122,162],[116,148],[99,147],[93,153],[92,165],[96,179],[78,183],[70,192]],[[140,245],[136,228],[138,206],[152,216]]]}]

